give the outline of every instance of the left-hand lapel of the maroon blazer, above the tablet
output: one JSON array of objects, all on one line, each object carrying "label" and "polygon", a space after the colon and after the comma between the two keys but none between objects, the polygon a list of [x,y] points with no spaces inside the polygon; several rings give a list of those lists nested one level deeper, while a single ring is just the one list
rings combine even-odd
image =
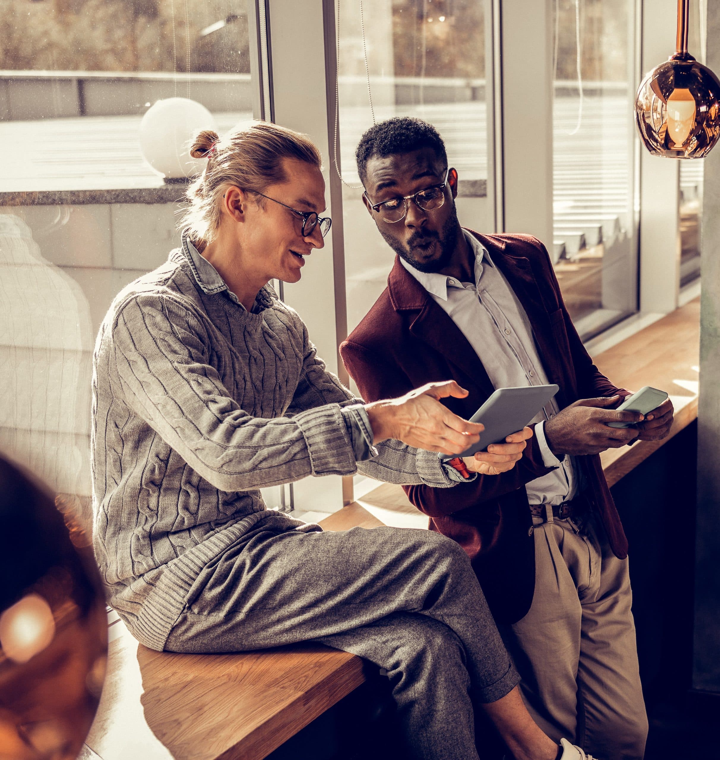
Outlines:
[{"label": "left-hand lapel of the maroon blazer, above the tablet", "polygon": [[411,321],[411,334],[442,354],[449,363],[461,370],[481,393],[489,396],[494,390],[493,384],[474,348],[455,322],[404,268],[397,256],[388,277],[388,288],[396,311],[417,312],[417,316]]}]

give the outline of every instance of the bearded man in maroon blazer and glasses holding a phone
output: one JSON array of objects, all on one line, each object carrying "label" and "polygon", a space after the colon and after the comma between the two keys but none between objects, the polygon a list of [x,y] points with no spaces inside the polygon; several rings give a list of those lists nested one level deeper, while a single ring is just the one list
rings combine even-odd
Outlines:
[{"label": "bearded man in maroon blazer and glasses holding a phone", "polygon": [[630,391],[592,363],[544,245],[460,226],[458,174],[431,125],[375,125],[357,163],[363,201],[397,257],[341,346],[344,364],[366,401],[452,378],[469,394],[447,405],[466,419],[495,388],[560,386],[513,470],[462,490],[404,488],[430,530],[471,557],[538,724],[602,760],[639,760],[647,718],[627,541],[598,454],[664,437],[672,405],[644,420],[614,410]]}]

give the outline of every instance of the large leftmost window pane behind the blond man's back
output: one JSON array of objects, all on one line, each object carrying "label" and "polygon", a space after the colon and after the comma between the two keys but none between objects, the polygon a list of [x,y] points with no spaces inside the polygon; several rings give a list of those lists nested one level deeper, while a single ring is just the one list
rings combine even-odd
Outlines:
[{"label": "large leftmost window pane behind the blond man's back", "polygon": [[144,161],[138,128],[172,97],[220,133],[252,118],[246,0],[0,11],[0,449],[87,518],[95,335],[176,245],[185,189]]}]

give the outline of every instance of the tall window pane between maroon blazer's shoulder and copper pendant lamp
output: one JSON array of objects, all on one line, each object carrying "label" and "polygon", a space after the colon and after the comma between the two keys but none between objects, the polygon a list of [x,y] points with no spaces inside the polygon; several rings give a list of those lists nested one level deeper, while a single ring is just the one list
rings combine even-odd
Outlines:
[{"label": "tall window pane between maroon blazer's shoulder and copper pendant lamp", "polygon": [[635,3],[555,0],[553,262],[584,339],[637,308]]}]

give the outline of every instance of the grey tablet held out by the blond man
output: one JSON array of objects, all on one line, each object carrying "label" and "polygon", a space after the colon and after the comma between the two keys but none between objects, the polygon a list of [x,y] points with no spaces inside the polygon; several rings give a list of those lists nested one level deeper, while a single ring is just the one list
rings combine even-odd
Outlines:
[{"label": "grey tablet held out by the blond man", "polygon": [[[471,423],[483,423],[480,440],[455,457],[471,457],[493,443],[504,443],[510,433],[522,430],[560,390],[557,385],[528,385],[524,388],[498,388],[471,416]],[[452,459],[438,454],[442,461]]]}]

